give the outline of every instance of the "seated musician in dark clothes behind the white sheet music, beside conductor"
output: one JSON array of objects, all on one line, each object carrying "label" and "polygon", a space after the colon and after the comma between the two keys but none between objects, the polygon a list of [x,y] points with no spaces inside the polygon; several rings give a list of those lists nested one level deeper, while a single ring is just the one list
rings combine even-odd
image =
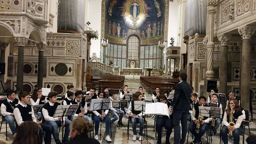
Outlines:
[{"label": "seated musician in dark clothes behind the white sheet music, beside conductor", "polygon": [[[168,108],[170,107],[171,103],[167,101],[166,96],[160,95],[158,96],[158,102],[163,102],[167,104]],[[169,109],[168,109],[169,111]],[[166,128],[166,144],[170,144],[170,135],[172,133],[172,128],[173,128],[173,116],[172,113],[169,111],[170,118],[168,116],[162,116],[162,115],[157,115],[156,119],[156,132],[158,135],[158,140],[157,144],[162,143],[162,127],[165,126]]]}]

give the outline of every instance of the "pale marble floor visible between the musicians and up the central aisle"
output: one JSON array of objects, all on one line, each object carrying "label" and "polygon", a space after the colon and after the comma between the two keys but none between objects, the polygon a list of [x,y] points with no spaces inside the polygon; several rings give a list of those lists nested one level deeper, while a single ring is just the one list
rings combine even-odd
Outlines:
[{"label": "pale marble floor visible between the musicians and up the central aisle", "polygon": [[[124,84],[128,85],[128,90],[130,92],[136,92],[138,90],[138,87],[140,86],[139,78],[140,78],[139,76],[134,76],[134,78],[133,78],[133,75],[126,76]],[[150,96],[151,96],[151,94],[146,93],[146,97],[147,98],[150,97]],[[255,104],[253,105],[253,108],[254,108],[254,110],[256,109],[256,105]],[[256,118],[255,114],[253,114],[253,116],[254,116],[254,118]],[[112,116],[110,116],[110,118],[112,118]],[[146,141],[146,138],[144,138],[143,139],[143,143],[144,144],[155,144],[156,143],[156,141],[154,141],[155,137],[154,137],[154,132],[153,132],[154,120],[150,119],[150,118],[151,118],[151,115],[148,115],[146,117],[146,121],[148,122],[148,127],[147,127],[147,129],[148,129],[148,142]],[[1,118],[0,118],[0,120],[1,120]],[[111,142],[111,144],[133,144],[133,143],[134,144],[140,144],[139,141],[136,141],[136,142],[132,141],[133,134],[132,134],[132,127],[131,127],[131,125],[130,125],[129,135],[127,135],[127,130],[126,130],[127,129],[127,119],[126,119],[125,116],[123,117],[122,121],[123,121],[123,124],[124,124],[125,128],[124,127],[120,128],[120,129],[116,128],[117,122],[114,122],[112,124],[112,137],[111,137],[112,142]],[[250,133],[251,133],[251,135],[255,135],[256,134],[255,122],[256,122],[256,120],[254,120],[254,123],[253,122],[250,123]],[[188,125],[189,125],[189,122],[188,122]],[[139,128],[137,128],[137,132],[138,131],[139,131]],[[217,134],[212,136],[212,144],[219,144],[219,142],[220,142],[219,133],[220,133],[220,127],[219,127],[219,129],[217,131]],[[62,133],[60,132],[59,136],[61,137],[61,135],[62,135]],[[105,135],[104,124],[102,124],[102,135],[106,136]],[[13,136],[12,136],[12,134],[10,132],[10,128],[9,128],[8,125],[7,125],[7,136],[8,136],[8,140],[7,141],[11,144],[12,140],[13,140]],[[89,136],[90,136],[90,134],[89,134]],[[128,136],[129,136],[129,140],[127,140]],[[249,130],[248,130],[248,127],[246,126],[245,139],[248,136],[249,136]],[[2,124],[2,128],[1,128],[1,131],[0,131],[0,138],[2,138],[2,139],[6,138],[5,122],[3,122],[3,124]],[[207,138],[206,138],[206,134],[205,134],[202,137],[202,142],[204,144],[206,144],[206,140],[207,140]],[[109,143],[106,140],[99,140],[99,142],[101,144],[108,144]],[[173,144],[173,142],[174,142],[174,128],[172,129],[172,134],[170,136],[170,142],[171,142],[171,144]],[[190,142],[192,142],[191,133],[188,136],[188,144],[190,144]],[[53,138],[52,138],[52,143],[53,144],[55,143]],[[162,134],[162,143],[165,144],[165,133]],[[228,144],[232,144],[232,143],[233,143],[232,140],[230,140],[228,142]],[[242,144],[242,143],[243,143],[242,142],[242,136],[240,136],[240,144]],[[245,142],[245,144],[246,144],[246,142]]]}]

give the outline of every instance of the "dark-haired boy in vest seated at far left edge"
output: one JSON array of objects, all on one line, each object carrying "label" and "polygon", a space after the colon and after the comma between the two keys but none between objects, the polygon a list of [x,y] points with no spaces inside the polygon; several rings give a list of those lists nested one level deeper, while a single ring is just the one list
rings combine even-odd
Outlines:
[{"label": "dark-haired boy in vest seated at far left edge", "polygon": [[19,100],[15,98],[15,93],[13,90],[9,90],[6,92],[7,98],[5,100],[2,100],[1,104],[1,114],[4,116],[4,119],[7,120],[9,127],[12,131],[12,135],[15,137],[16,130],[15,130],[15,118],[13,110],[16,108],[16,106],[19,103]]}]

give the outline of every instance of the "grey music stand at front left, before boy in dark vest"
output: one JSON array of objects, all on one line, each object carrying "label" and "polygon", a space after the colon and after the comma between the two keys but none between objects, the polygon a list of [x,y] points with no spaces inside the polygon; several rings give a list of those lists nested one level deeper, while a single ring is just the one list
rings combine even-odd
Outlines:
[{"label": "grey music stand at front left, before boy in dark vest", "polygon": [[78,108],[78,104],[74,104],[74,105],[58,105],[55,113],[53,115],[54,118],[56,117],[62,117],[61,119],[61,126],[62,126],[62,144],[63,144],[63,140],[64,140],[64,125],[63,125],[63,118],[64,116],[73,116],[76,113],[76,110]]}]

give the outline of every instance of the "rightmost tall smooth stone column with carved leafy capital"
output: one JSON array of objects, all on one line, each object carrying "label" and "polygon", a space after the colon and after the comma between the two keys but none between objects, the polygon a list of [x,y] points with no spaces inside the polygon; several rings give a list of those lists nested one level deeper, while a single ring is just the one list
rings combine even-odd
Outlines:
[{"label": "rightmost tall smooth stone column with carved leafy capital", "polygon": [[242,26],[238,28],[239,34],[242,36],[242,59],[240,68],[240,80],[241,80],[241,106],[245,110],[249,110],[250,102],[250,60],[251,60],[251,38],[256,28],[251,26]]}]

